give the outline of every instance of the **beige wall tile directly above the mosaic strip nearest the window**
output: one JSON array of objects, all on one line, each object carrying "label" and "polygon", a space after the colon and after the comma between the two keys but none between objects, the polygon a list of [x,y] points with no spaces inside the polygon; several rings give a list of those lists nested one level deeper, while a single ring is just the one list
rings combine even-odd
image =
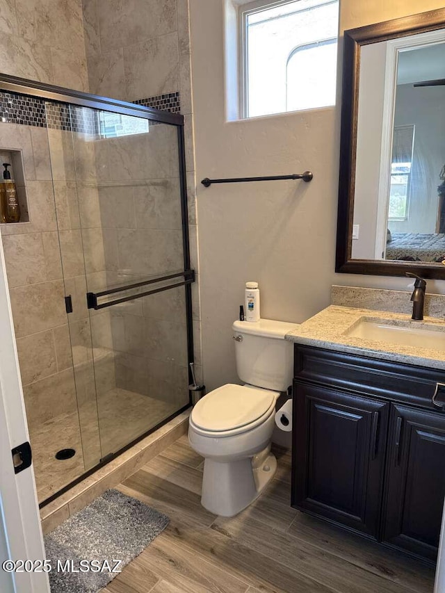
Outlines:
[{"label": "beige wall tile directly above the mosaic strip nearest the window", "polygon": [[179,86],[177,33],[124,47],[127,100],[173,92]]}]

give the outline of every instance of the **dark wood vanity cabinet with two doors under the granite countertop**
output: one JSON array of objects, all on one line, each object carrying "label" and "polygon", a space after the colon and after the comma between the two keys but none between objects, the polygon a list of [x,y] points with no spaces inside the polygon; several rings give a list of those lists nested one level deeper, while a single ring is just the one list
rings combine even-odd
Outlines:
[{"label": "dark wood vanity cabinet with two doors under the granite countertop", "polygon": [[294,374],[293,507],[435,560],[444,373],[297,344]]}]

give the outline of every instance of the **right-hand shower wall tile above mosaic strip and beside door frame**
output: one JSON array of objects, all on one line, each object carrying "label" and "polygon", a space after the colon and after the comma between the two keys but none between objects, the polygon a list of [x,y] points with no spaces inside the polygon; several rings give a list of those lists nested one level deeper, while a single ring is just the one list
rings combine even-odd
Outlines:
[{"label": "right-hand shower wall tile above mosaic strip and beside door frame", "polygon": [[191,266],[197,271],[192,289],[195,368],[201,379],[188,0],[83,0],[83,15],[91,92],[149,106],[179,92],[185,120]]}]

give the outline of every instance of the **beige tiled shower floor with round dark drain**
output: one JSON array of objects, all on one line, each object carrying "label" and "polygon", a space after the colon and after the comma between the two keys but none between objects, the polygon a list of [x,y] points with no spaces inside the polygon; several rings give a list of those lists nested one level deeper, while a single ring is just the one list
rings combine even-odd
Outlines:
[{"label": "beige tiled shower floor with round dark drain", "polygon": [[[85,409],[80,412],[81,430],[77,412],[60,414],[30,430],[39,502],[97,465],[101,457],[115,453],[159,424],[179,406],[125,389],[107,391],[97,398],[100,450],[96,413],[86,414]],[[82,442],[97,446],[84,450]],[[56,460],[57,451],[64,448],[74,448],[76,455],[69,460]]]}]

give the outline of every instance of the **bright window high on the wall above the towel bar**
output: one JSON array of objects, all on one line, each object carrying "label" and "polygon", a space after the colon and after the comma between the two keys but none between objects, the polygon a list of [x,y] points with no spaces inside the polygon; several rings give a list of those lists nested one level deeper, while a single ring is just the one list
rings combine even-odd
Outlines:
[{"label": "bright window high on the wall above the towel bar", "polygon": [[338,18],[338,0],[239,8],[243,117],[334,105]]}]

